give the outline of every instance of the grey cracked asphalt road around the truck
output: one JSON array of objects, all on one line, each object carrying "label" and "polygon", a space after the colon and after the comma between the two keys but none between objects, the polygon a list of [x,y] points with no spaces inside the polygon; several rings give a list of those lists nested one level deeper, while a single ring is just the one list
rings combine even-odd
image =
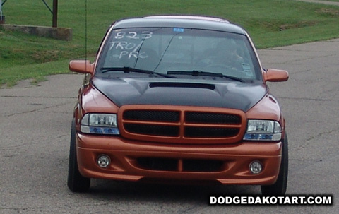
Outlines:
[{"label": "grey cracked asphalt road around the truck", "polygon": [[287,120],[287,194],[331,194],[333,206],[208,206],[208,196],[259,194],[258,186],[167,186],[96,180],[66,187],[73,106],[83,76],[50,76],[0,89],[0,213],[339,213],[339,40],[259,51]]}]

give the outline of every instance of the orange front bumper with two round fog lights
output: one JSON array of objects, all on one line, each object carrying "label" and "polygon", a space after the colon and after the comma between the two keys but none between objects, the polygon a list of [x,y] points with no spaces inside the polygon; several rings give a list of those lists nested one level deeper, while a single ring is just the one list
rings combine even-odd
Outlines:
[{"label": "orange front bumper with two round fog lights", "polygon": [[[278,178],[282,153],[281,142],[176,145],[82,133],[77,133],[76,145],[78,168],[84,177],[133,182],[151,179],[269,185]],[[111,159],[107,168],[97,165],[97,157],[102,154]],[[249,172],[249,164],[254,160],[263,164],[259,174]],[[208,170],[204,162],[211,163],[213,170]]]}]

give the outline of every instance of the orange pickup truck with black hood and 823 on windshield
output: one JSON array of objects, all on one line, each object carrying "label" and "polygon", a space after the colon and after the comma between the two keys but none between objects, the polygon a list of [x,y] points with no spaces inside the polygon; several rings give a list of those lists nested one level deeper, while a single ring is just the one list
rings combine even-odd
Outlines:
[{"label": "orange pickup truck with black hood and 823 on windshield", "polygon": [[287,134],[246,31],[222,18],[117,20],[85,73],[71,126],[68,186],[90,179],[287,188]]}]

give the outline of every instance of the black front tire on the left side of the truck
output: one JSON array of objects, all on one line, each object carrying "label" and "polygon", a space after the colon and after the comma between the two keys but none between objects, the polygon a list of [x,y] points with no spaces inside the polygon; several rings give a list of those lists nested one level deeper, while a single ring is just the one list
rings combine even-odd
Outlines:
[{"label": "black front tire on the left side of the truck", "polygon": [[88,191],[88,189],[90,189],[90,179],[83,177],[78,169],[78,161],[76,160],[76,122],[74,119],[71,126],[67,186],[69,186],[69,189],[73,192]]}]

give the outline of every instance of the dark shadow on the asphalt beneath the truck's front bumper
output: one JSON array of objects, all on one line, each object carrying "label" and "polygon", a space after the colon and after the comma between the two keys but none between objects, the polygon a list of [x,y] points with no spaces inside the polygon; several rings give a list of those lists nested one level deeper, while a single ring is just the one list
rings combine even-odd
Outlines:
[{"label": "dark shadow on the asphalt beneath the truck's front bumper", "polygon": [[253,196],[261,194],[259,186],[177,185],[93,180],[88,196],[105,201],[153,201],[166,203],[205,203],[210,196]]}]

